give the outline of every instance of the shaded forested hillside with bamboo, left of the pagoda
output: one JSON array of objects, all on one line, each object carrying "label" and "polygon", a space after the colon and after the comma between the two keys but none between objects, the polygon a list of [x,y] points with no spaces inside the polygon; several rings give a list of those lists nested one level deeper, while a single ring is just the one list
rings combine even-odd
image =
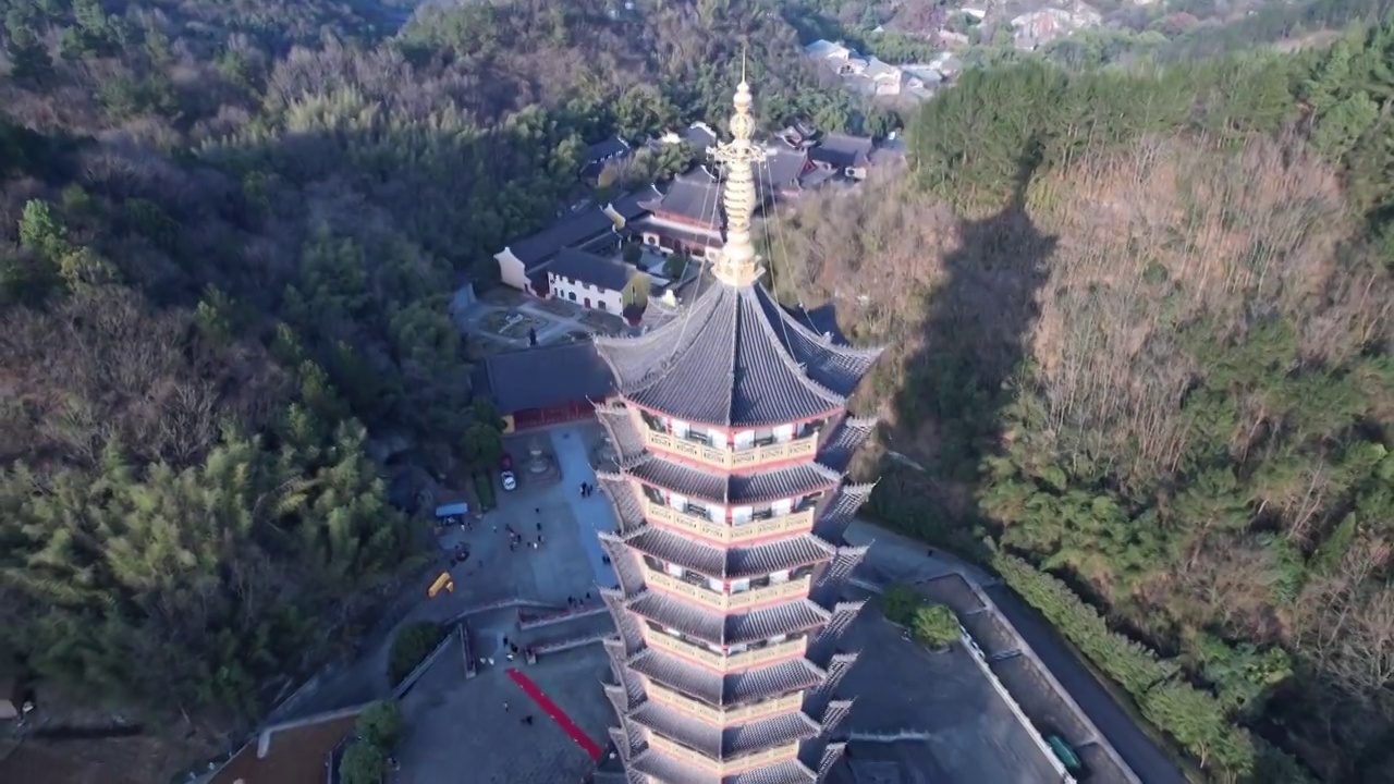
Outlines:
[{"label": "shaded forested hillside with bamboo, left of the pagoda", "polygon": [[382,8],[0,0],[0,677],[50,713],[206,739],[353,646],[418,552],[382,458],[495,424],[456,283],[587,144],[715,121],[742,50],[763,116],[889,124],[740,3]]}]

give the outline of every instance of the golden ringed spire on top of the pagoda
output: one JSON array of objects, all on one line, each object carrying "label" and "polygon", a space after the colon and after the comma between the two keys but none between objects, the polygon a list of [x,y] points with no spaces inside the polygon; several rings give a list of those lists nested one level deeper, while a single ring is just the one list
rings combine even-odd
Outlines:
[{"label": "golden ringed spire on top of the pagoda", "polygon": [[726,211],[726,244],[717,257],[712,273],[728,286],[749,286],[760,279],[764,269],[756,257],[756,243],[750,237],[758,194],[756,166],[764,163],[765,151],[750,141],[756,120],[750,116],[750,85],[746,84],[746,56],[740,56],[740,85],[736,86],[730,116],[730,141],[717,145],[714,156],[726,170],[722,187],[722,206]]}]

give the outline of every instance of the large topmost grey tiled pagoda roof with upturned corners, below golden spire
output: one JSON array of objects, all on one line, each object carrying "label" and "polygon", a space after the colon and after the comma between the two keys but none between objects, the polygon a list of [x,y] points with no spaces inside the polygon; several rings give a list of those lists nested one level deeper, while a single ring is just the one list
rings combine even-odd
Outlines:
[{"label": "large topmost grey tiled pagoda roof with upturned corners, below golden spire", "polygon": [[595,347],[626,398],[718,427],[829,414],[877,357],[800,328],[763,286],[712,286],[668,324]]}]

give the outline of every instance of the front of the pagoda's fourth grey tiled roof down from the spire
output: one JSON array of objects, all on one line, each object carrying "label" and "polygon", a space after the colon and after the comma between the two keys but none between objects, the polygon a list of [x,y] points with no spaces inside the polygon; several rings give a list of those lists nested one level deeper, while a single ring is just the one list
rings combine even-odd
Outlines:
[{"label": "front of the pagoda's fourth grey tiled roof down from the spire", "polygon": [[751,612],[723,615],[662,593],[629,600],[631,612],[712,644],[740,644],[815,629],[832,614],[809,600],[786,601]]}]

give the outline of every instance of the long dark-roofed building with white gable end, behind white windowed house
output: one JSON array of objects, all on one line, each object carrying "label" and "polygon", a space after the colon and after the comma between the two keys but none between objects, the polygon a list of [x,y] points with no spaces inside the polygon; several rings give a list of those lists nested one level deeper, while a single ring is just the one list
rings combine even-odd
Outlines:
[{"label": "long dark-roofed building with white gable end, behind white windowed house", "polygon": [[618,240],[619,232],[645,213],[641,202],[657,195],[658,191],[651,187],[641,188],[605,206],[591,206],[563,218],[531,237],[509,243],[493,254],[499,262],[499,279],[520,292],[545,297],[546,265],[558,252],[563,248],[592,248]]}]

